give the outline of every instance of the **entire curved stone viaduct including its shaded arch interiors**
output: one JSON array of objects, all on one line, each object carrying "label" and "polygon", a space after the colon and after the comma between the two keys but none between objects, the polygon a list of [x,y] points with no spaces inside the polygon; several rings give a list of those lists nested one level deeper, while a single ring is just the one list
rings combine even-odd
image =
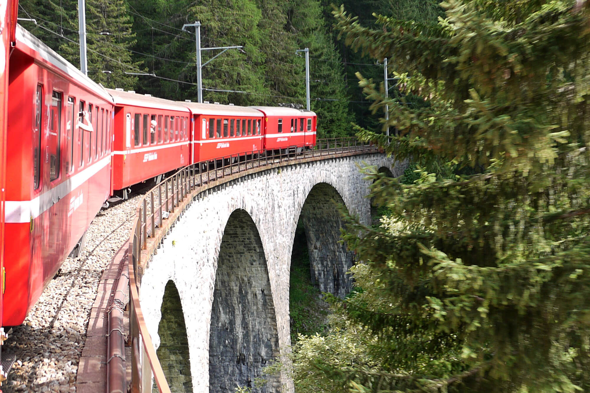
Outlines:
[{"label": "entire curved stone viaduct including its shaded arch interiors", "polygon": [[[210,189],[163,240],[143,273],[140,303],[172,391],[253,387],[289,351],[289,270],[297,222],[311,276],[344,296],[353,255],[338,243],[338,205],[368,223],[369,181],[359,166],[401,175],[403,165],[366,154],[266,169]],[[253,391],[293,391],[286,375]]]}]

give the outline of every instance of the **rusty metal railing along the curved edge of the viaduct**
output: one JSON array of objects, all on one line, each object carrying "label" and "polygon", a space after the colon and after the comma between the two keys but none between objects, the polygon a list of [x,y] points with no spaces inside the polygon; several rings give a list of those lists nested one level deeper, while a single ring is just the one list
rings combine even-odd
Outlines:
[{"label": "rusty metal railing along the curved edge of the viaduct", "polygon": [[[317,161],[329,157],[378,151],[375,145],[359,142],[353,137],[318,139],[312,149],[307,146],[290,146],[284,150],[277,149],[274,155],[258,151],[243,152],[208,162],[195,163],[179,169],[178,172],[152,188],[137,206],[135,224],[129,238],[129,338],[127,342],[132,349],[130,391],[132,393],[151,392],[153,375],[159,392],[170,392],[143,319],[139,304],[139,290],[145,264],[156,253],[166,233],[194,196],[245,173],[263,171],[295,162]],[[117,345],[118,342],[121,341],[109,342],[109,348],[111,345]],[[120,348],[119,353],[124,353],[123,348]],[[113,371],[111,369],[107,375],[109,381],[111,378],[124,378],[124,372]],[[109,385],[126,386],[126,381],[117,382]]]}]

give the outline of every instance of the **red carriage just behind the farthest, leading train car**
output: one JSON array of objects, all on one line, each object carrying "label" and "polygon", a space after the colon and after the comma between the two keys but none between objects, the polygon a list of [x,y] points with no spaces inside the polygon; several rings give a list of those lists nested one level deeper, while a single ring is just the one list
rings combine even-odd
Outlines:
[{"label": "red carriage just behind the farthest, leading train car", "polygon": [[194,119],[192,162],[263,150],[263,114],[249,107],[186,103]]}]

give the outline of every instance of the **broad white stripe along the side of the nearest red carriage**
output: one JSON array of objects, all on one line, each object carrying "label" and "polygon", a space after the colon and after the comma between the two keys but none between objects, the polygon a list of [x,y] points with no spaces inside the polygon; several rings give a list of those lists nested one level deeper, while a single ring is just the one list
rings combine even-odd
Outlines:
[{"label": "broad white stripe along the side of the nearest red carriage", "polygon": [[110,164],[110,156],[95,162],[83,171],[76,173],[54,188],[38,195],[32,201],[6,201],[5,214],[7,224],[22,224],[30,222],[31,217],[37,218],[43,212],[65,198],[70,192],[87,182],[92,176],[99,173],[101,169]]}]

